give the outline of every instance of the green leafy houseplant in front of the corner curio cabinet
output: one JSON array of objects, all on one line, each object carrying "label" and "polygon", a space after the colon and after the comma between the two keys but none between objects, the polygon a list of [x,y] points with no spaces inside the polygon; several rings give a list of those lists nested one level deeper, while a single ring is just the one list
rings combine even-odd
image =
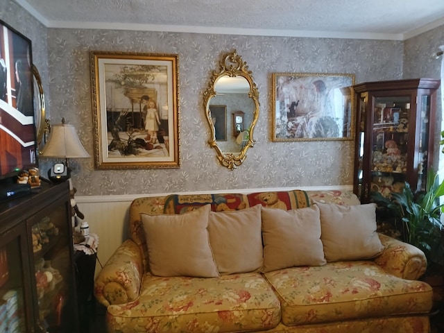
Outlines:
[{"label": "green leafy houseplant in front of the corner curio cabinet", "polygon": [[413,192],[408,182],[401,192],[392,192],[388,198],[379,192],[371,194],[372,199],[395,217],[395,225],[400,228],[402,241],[420,248],[427,257],[427,272],[432,273],[444,264],[444,246],[441,242],[443,224],[441,212],[444,204],[444,182],[439,182],[438,173],[433,169],[427,172],[427,190]]}]

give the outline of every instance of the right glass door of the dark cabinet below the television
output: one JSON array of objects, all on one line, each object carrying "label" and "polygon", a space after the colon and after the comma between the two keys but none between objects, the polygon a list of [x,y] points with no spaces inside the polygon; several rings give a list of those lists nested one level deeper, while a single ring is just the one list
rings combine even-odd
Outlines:
[{"label": "right glass door of the dark cabinet below the television", "polygon": [[[41,332],[73,332],[74,276],[72,237],[67,228],[67,202],[59,201],[28,221],[32,237],[37,326]],[[71,251],[71,252],[70,252]]]}]

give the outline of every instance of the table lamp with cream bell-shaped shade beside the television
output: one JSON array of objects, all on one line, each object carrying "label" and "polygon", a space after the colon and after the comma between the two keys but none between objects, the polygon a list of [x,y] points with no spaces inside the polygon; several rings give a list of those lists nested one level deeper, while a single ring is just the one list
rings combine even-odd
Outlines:
[{"label": "table lamp with cream bell-shaped shade beside the television", "polygon": [[70,170],[68,167],[69,158],[89,157],[83,148],[76,133],[76,128],[69,123],[62,123],[51,126],[48,142],[46,142],[40,157],[62,157],[65,164],[56,163],[48,171],[49,179],[54,182],[62,182],[69,179]]}]

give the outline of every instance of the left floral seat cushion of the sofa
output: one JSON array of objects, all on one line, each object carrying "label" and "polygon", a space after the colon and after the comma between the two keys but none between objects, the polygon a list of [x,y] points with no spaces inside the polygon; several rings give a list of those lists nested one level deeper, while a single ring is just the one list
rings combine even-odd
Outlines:
[{"label": "left floral seat cushion of the sofa", "polygon": [[108,307],[112,332],[251,332],[280,322],[280,302],[260,273],[220,278],[144,275],[134,302]]}]

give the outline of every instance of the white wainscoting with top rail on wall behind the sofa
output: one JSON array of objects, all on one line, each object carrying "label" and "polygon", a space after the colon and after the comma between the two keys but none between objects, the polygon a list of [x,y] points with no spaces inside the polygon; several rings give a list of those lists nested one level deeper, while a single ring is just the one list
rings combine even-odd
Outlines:
[{"label": "white wainscoting with top rail on wall behind the sofa", "polygon": [[[182,192],[180,194],[218,194],[218,193],[254,193],[259,191],[288,191],[291,188],[267,189],[235,189],[221,191]],[[352,186],[325,186],[325,187],[298,187],[305,191],[341,190],[352,191]],[[141,196],[165,196],[167,194],[132,194],[121,196],[76,196],[76,203],[80,212],[85,215],[83,221],[89,223],[89,232],[99,236],[99,251],[97,257],[102,265],[128,238],[128,211],[131,202]],[[96,262],[96,275],[101,270],[99,261]]]}]

